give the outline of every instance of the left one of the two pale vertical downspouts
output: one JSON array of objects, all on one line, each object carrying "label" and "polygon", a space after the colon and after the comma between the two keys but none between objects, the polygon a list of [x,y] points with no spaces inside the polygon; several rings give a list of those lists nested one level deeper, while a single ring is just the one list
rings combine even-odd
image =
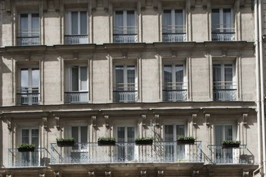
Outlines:
[{"label": "left one of the two pale vertical downspouts", "polygon": [[255,57],[256,57],[256,105],[257,105],[257,134],[258,134],[258,162],[261,167],[261,127],[260,127],[260,92],[259,92],[259,41],[258,41],[258,0],[254,0],[255,16]]}]

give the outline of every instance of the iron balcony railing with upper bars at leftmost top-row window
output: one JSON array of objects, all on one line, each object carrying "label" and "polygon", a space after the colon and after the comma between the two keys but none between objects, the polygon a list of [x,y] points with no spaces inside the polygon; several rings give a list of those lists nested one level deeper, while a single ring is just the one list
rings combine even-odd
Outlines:
[{"label": "iron balcony railing with upper bars at leftmost top-row window", "polygon": [[29,46],[40,45],[40,30],[39,29],[24,29],[17,33],[17,45]]}]

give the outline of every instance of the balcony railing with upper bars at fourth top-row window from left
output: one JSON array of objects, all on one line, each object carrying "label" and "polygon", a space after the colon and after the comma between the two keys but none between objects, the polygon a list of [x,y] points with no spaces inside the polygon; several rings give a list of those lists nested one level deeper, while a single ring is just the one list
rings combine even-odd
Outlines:
[{"label": "balcony railing with upper bars at fourth top-row window from left", "polygon": [[186,25],[163,26],[163,42],[186,41]]}]

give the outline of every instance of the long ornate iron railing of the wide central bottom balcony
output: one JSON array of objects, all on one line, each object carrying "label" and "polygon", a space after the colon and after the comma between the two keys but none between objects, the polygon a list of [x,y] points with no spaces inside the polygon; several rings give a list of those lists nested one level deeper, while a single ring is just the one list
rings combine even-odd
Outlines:
[{"label": "long ornate iron railing of the wide central bottom balcony", "polygon": [[51,164],[71,163],[157,163],[202,162],[201,142],[177,145],[176,142],[154,142],[135,145],[135,142],[116,142],[115,146],[98,143],[76,143],[74,147],[58,147],[51,143]]}]

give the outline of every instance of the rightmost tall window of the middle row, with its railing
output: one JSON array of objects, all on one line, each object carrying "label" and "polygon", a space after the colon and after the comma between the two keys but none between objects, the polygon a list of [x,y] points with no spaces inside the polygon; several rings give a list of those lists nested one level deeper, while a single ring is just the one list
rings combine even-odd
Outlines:
[{"label": "rightmost tall window of the middle row, with its railing", "polygon": [[216,101],[236,100],[236,81],[232,63],[213,64],[213,99]]}]

